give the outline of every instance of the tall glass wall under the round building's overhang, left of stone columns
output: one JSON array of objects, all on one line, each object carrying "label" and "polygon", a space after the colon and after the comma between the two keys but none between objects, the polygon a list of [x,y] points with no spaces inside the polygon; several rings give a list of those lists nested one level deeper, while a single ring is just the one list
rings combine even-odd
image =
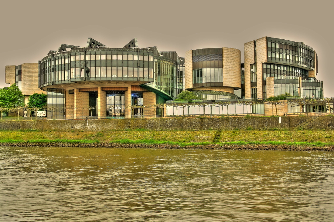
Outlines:
[{"label": "tall glass wall under the round building's overhang, left of stone columns", "polygon": [[[63,119],[65,117],[65,90],[47,88],[47,116],[49,119]],[[53,109],[50,109],[54,107]]]}]

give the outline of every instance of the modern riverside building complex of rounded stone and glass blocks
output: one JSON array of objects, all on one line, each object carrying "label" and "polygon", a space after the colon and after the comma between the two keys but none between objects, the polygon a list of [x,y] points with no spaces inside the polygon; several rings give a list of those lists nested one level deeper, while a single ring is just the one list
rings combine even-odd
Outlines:
[{"label": "modern riverside building complex of rounded stone and glass blocks", "polygon": [[86,47],[61,44],[38,63],[6,66],[5,80],[26,98],[47,93],[48,106],[57,107],[54,117],[129,118],[164,115],[163,108],[150,105],[174,100],[183,90],[211,102],[285,92],[322,98],[316,74],[316,52],[302,42],[269,37],[247,42],[242,63],[241,51],[233,48],[189,50],[183,58],[156,46],[139,48],[136,38],[122,48],[88,38]]}]

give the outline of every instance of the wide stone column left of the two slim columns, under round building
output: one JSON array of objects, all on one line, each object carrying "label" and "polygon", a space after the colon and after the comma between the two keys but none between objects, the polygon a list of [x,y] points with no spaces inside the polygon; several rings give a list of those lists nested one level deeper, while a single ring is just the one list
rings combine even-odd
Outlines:
[{"label": "wide stone column left of the two slim columns, under round building", "polygon": [[89,93],[79,92],[79,89],[74,89],[74,118],[81,119],[89,116]]}]

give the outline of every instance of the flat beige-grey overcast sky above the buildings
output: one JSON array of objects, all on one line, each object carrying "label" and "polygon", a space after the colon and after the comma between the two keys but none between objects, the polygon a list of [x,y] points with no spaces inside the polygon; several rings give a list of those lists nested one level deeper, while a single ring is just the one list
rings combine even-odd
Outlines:
[{"label": "flat beige-grey overcast sky above the buildings", "polygon": [[6,65],[38,62],[60,44],[91,37],[123,47],[157,46],[184,57],[189,49],[231,47],[263,36],[304,42],[318,55],[317,79],[334,97],[334,1],[1,1],[0,86]]}]

